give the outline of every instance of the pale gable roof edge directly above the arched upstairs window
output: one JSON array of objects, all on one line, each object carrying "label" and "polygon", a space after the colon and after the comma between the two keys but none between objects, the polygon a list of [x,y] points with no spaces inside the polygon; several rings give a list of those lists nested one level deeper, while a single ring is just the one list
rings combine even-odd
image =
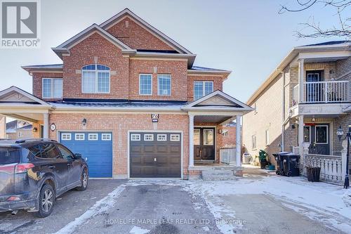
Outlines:
[{"label": "pale gable roof edge directly above the arched upstairs window", "polygon": [[62,53],[69,53],[69,48],[72,48],[79,41],[86,39],[86,37],[91,36],[91,34],[93,34],[94,32],[98,32],[102,37],[105,37],[105,39],[110,41],[112,44],[121,48],[122,52],[136,53],[136,50],[133,50],[131,47],[124,44],[122,41],[114,37],[112,34],[107,32],[106,30],[103,30],[97,24],[93,24],[90,27],[87,27],[85,30],[79,32],[79,34],[76,34],[71,39],[68,39],[67,41],[60,44],[60,46],[57,46],[52,49],[60,58],[62,58]]}]

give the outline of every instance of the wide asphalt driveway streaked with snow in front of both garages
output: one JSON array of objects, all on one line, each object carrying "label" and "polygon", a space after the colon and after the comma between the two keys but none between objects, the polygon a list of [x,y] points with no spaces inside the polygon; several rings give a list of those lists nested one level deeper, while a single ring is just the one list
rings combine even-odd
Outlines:
[{"label": "wide asphalt driveway streaked with snow in front of both garages", "polygon": [[[310,204],[265,191],[274,181],[290,184],[291,178],[251,175],[237,181],[90,180],[86,191],[72,190],[58,198],[53,214],[45,219],[27,212],[0,214],[0,233],[320,234],[351,230],[345,216],[319,212],[308,208]],[[293,183],[306,187],[299,178]],[[310,193],[318,195],[320,186],[315,185],[316,192]],[[324,187],[332,195],[338,191],[338,187]]]}]

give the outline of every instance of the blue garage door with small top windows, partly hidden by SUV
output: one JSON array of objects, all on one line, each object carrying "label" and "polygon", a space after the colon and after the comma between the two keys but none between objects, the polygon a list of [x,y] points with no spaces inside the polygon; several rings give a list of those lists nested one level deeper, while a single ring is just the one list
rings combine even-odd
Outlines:
[{"label": "blue garage door with small top windows, partly hidden by SUV", "polygon": [[60,143],[87,159],[90,177],[112,177],[112,132],[60,132]]}]

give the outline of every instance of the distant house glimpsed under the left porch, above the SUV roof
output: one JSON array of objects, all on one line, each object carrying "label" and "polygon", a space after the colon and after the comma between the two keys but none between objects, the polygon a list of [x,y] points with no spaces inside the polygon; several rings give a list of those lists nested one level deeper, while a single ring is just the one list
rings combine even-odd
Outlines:
[{"label": "distant house glimpsed under the left porch, above the SUV roof", "polygon": [[29,122],[25,122],[22,120],[13,120],[11,122],[6,123],[6,138],[33,138],[32,130],[33,126]]}]

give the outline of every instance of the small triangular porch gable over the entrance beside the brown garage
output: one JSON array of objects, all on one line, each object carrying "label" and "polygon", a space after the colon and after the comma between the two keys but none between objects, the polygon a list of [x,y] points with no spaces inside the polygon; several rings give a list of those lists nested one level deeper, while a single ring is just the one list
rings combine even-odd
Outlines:
[{"label": "small triangular porch gable over the entrance beside the brown garage", "polygon": [[[211,100],[211,98],[217,98],[217,103],[206,102]],[[240,110],[244,112],[249,112],[253,108],[249,107],[245,103],[233,98],[232,96],[224,93],[223,91],[216,90],[212,93],[208,93],[206,96],[194,100],[192,103],[189,103],[182,108],[183,110],[228,110],[235,111]]]}]

